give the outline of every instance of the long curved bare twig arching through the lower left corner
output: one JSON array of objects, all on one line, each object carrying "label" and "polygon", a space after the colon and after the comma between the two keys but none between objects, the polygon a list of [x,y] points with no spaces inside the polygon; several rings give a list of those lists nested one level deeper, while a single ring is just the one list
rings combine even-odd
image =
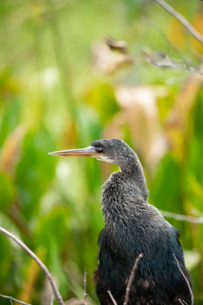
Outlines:
[{"label": "long curved bare twig arching through the lower left corner", "polygon": [[[24,242],[22,242],[18,237],[16,237],[14,234],[12,234],[11,232],[7,231],[6,229],[0,227],[0,232],[2,232],[3,234],[7,235],[8,237],[10,237],[11,239],[13,239],[16,243],[18,243],[18,245],[29,255],[31,256],[31,258],[33,260],[36,261],[36,263],[38,264],[38,266],[43,270],[43,272],[45,273],[52,289],[54,292],[54,295],[59,303],[59,305],[64,305],[62,296],[60,295],[60,292],[58,291],[58,288],[54,282],[54,279],[51,276],[51,273],[49,272],[48,268],[45,266],[45,264],[43,264],[43,262],[37,257],[37,255],[35,255],[35,253],[33,253],[25,244]],[[25,303],[24,303],[25,304]]]}]

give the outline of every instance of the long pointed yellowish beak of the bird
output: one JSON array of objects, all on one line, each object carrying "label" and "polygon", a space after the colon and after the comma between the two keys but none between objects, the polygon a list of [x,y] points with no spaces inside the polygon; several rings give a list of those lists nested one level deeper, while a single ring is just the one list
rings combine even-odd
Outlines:
[{"label": "long pointed yellowish beak of the bird", "polygon": [[53,153],[49,153],[48,155],[54,156],[64,156],[64,157],[91,157],[97,158],[98,154],[96,153],[96,149],[93,146],[88,146],[86,148],[80,149],[70,149],[70,150],[59,150],[53,151]]}]

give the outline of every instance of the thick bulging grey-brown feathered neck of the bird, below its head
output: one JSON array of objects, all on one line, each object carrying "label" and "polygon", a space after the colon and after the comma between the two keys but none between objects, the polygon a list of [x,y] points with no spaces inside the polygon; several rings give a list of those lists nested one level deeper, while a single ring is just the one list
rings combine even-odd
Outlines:
[{"label": "thick bulging grey-brown feathered neck of the bird, below its head", "polygon": [[144,172],[139,160],[130,167],[120,167],[121,172],[113,173],[103,186],[101,208],[105,222],[111,216],[117,219],[133,217],[138,205],[148,198]]}]

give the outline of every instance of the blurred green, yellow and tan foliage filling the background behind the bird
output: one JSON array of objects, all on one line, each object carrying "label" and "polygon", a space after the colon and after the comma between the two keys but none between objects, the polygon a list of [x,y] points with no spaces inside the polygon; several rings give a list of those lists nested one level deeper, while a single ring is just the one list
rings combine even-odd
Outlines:
[{"label": "blurred green, yellow and tan foliage filling the background behind the bird", "polygon": [[[203,35],[203,2],[168,3]],[[47,265],[69,304],[83,299],[85,266],[89,304],[98,304],[100,190],[118,169],[47,153],[123,139],[143,164],[149,202],[193,221],[166,217],[203,304],[202,76],[155,67],[142,52],[198,67],[202,45],[152,0],[1,0],[0,44],[0,225]],[[3,234],[0,270],[0,293],[50,304],[43,272]]]}]

